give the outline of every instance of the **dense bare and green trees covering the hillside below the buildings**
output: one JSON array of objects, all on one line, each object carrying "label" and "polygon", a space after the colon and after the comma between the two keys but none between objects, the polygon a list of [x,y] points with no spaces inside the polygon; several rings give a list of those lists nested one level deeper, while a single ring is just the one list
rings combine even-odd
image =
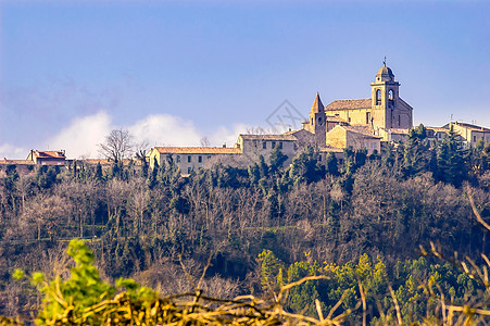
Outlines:
[{"label": "dense bare and green trees covering the hillside below the buildings", "polygon": [[436,252],[485,263],[489,243],[468,196],[490,215],[489,150],[462,149],[454,135],[431,146],[420,126],[381,153],[347,149],[342,164],[334,155],[319,162],[309,147],[287,167],[276,150],[269,162],[216,164],[186,178],[172,158],[154,170],[78,163],[24,175],[8,167],[0,178],[0,312],[40,310],[41,294],[11,274],[66,276],[72,238],[88,239],[102,279],[131,277],[162,294],[193,290],[189,276],[199,278],[211,258],[201,287],[224,299],[328,276],[285,300],[287,311],[316,317],[316,299],[325,315],[341,299],[335,314],[352,310],[352,323],[386,322],[386,314],[422,321],[428,311],[441,317],[441,297],[485,308],[485,281],[420,258],[418,248],[434,241]]}]

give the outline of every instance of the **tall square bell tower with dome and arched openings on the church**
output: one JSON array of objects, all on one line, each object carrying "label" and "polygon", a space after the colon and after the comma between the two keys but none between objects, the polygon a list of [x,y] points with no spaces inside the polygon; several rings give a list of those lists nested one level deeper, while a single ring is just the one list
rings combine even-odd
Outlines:
[{"label": "tall square bell tower with dome and arched openings on the church", "polygon": [[372,96],[372,126],[376,128],[404,128],[400,115],[395,113],[400,105],[399,97],[400,83],[394,80],[393,72],[386,66],[381,66],[376,74],[376,79],[370,83]]}]

